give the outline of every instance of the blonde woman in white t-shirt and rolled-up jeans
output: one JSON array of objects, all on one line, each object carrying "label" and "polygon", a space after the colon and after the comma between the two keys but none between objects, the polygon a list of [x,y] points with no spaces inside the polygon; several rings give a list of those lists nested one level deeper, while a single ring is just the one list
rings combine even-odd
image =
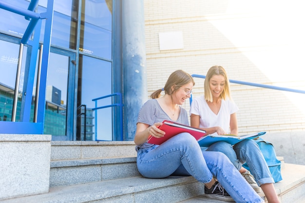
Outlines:
[{"label": "blonde woman in white t-shirt and rolled-up jeans", "polygon": [[[223,67],[212,66],[209,69],[204,83],[204,92],[204,95],[192,100],[191,126],[204,129],[207,134],[238,135],[236,117],[238,107],[230,97],[229,79]],[[255,191],[260,192],[262,188],[268,203],[279,203],[273,185],[274,180],[265,158],[253,140],[246,139],[234,146],[226,142],[217,142],[206,150],[226,154]],[[245,162],[248,163],[254,177],[242,166]]]}]

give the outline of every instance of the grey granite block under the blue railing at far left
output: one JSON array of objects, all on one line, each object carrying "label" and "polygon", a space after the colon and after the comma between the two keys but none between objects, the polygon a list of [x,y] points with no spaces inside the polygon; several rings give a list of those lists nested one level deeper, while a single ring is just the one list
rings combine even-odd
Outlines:
[{"label": "grey granite block under the blue railing at far left", "polygon": [[51,135],[0,134],[0,200],[49,191]]}]

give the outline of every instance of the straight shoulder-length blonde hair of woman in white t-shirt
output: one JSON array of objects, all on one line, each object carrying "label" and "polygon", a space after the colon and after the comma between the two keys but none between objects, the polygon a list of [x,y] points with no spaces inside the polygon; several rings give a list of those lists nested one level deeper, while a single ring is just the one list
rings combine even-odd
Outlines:
[{"label": "straight shoulder-length blonde hair of woman in white t-shirt", "polygon": [[222,75],[225,78],[225,88],[223,90],[223,92],[220,94],[220,98],[226,100],[231,99],[230,96],[230,87],[229,87],[229,79],[228,79],[228,75],[225,71],[225,69],[221,66],[212,66],[210,67],[207,75],[206,75],[206,79],[204,82],[204,91],[205,91],[205,100],[212,102],[213,101],[213,96],[212,96],[212,92],[210,90],[210,79],[213,75]]}]

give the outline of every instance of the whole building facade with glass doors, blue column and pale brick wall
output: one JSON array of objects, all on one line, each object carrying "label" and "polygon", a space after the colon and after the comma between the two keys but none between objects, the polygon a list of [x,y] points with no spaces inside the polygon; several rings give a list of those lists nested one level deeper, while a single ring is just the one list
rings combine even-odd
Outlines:
[{"label": "whole building facade with glass doors, blue column and pale brick wall", "polygon": [[[29,5],[28,0],[0,2]],[[38,0],[35,12],[45,12],[47,2]],[[299,1],[55,0],[46,86],[60,95],[50,97],[46,88],[43,133],[52,134],[52,140],[133,140],[140,106],[178,69],[205,75],[221,65],[230,79],[304,91],[304,14],[292,12],[300,8]],[[0,71],[5,73],[0,74],[0,122],[9,122],[28,20],[0,11]],[[44,26],[42,21],[40,44]],[[23,55],[17,122],[22,121],[30,46]],[[37,69],[33,78],[30,122]],[[204,79],[195,82],[193,97],[203,94]],[[122,93],[121,102],[112,95],[116,92]],[[234,83],[231,92],[240,109],[240,133],[304,131],[304,93]],[[105,95],[112,96],[95,101]],[[96,110],[95,105],[111,107]],[[189,106],[188,101],[183,107]]]}]

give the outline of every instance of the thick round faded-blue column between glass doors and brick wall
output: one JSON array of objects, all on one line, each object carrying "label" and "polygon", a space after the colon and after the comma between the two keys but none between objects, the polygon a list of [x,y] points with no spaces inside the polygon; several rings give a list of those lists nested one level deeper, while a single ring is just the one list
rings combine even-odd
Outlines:
[{"label": "thick round faded-blue column between glass doors and brick wall", "polygon": [[144,0],[122,0],[124,140],[133,140],[138,112],[147,100]]}]

